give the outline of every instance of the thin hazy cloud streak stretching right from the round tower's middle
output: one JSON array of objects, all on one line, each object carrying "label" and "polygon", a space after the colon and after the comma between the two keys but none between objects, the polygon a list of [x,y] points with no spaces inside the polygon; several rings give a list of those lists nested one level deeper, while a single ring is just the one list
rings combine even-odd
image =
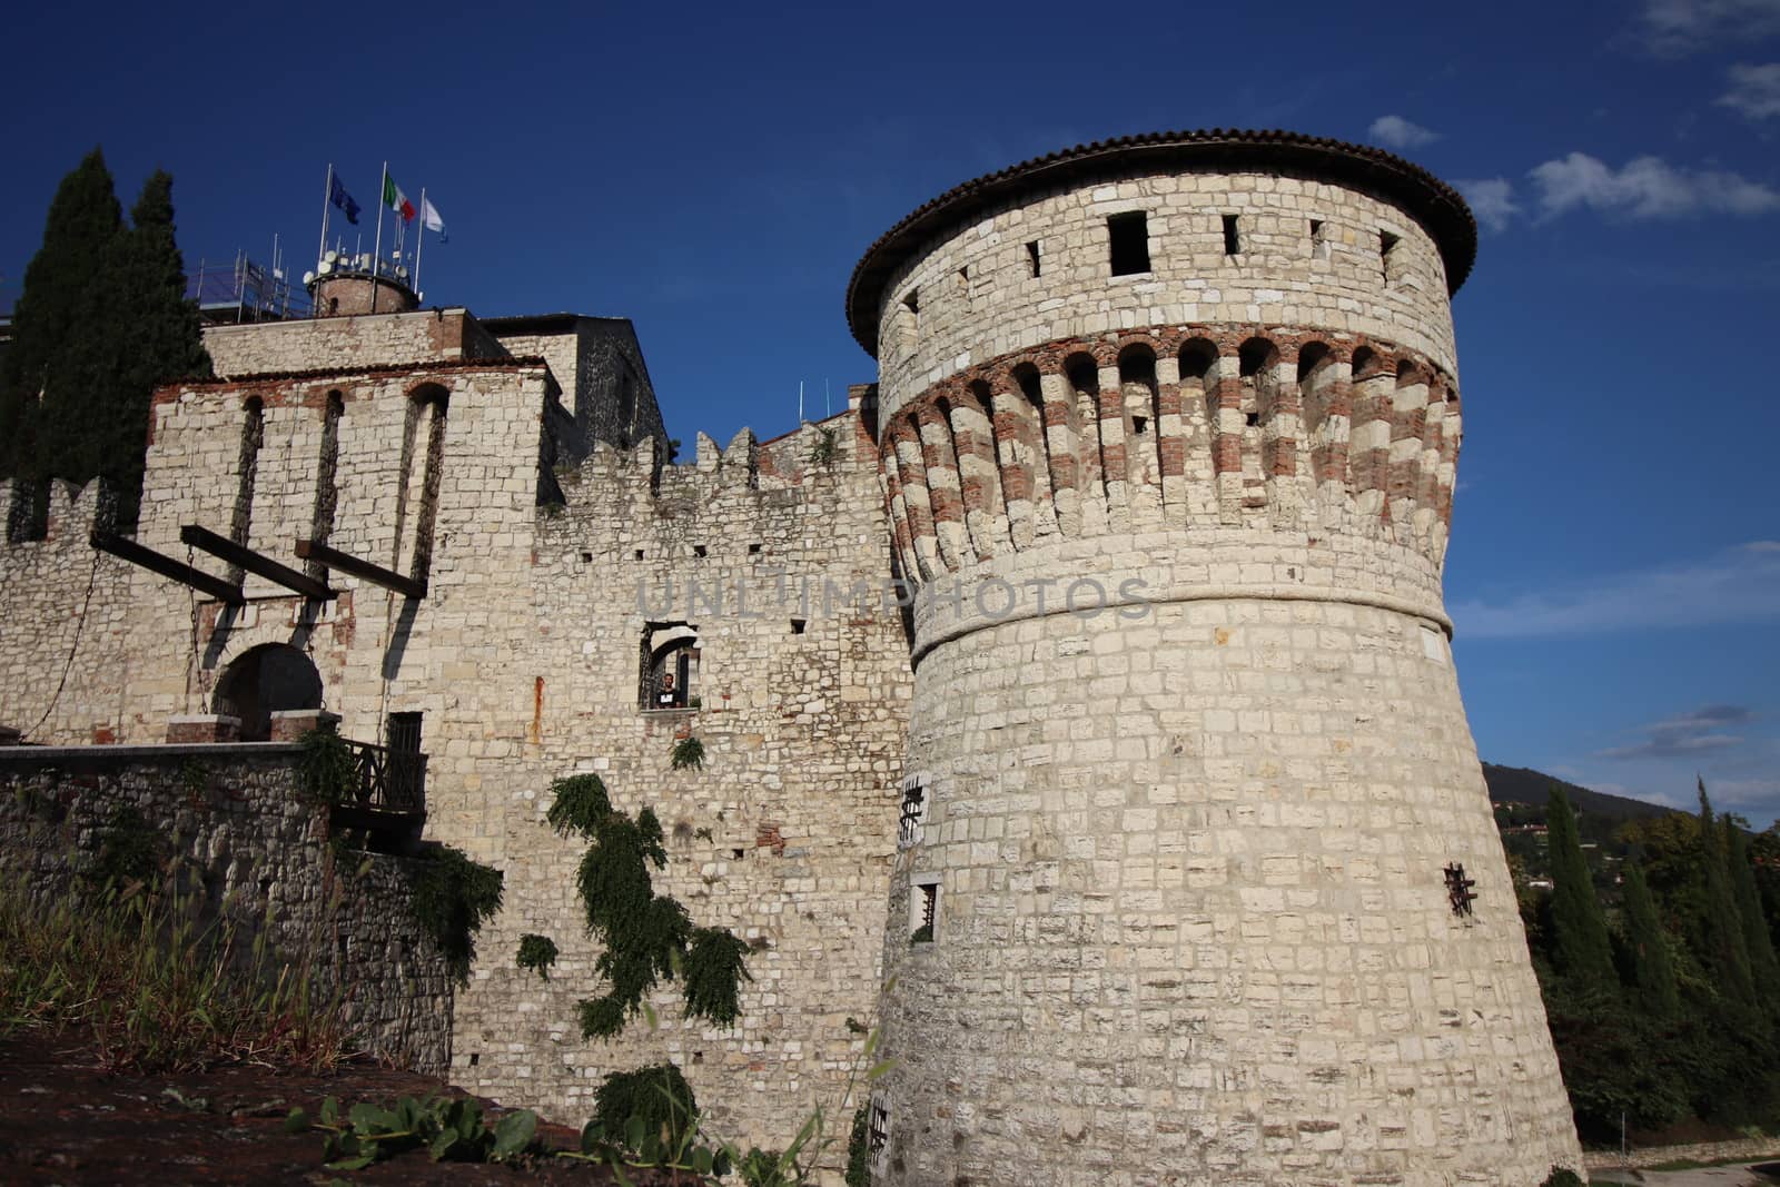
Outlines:
[{"label": "thin hazy cloud streak stretching right from the round tower's middle", "polygon": [[1755,623],[1780,618],[1776,587],[1780,545],[1757,541],[1691,564],[1572,582],[1499,602],[1460,602],[1452,607],[1452,621],[1460,639]]}]

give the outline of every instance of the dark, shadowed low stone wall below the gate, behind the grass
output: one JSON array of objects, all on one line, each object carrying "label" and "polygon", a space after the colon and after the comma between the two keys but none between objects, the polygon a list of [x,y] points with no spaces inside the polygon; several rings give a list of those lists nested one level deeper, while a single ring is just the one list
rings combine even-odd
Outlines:
[{"label": "dark, shadowed low stone wall below the gate, behind the grass", "polygon": [[0,749],[0,876],[57,893],[132,810],[242,949],[271,920],[279,956],[319,993],[340,991],[365,1050],[443,1073],[452,984],[409,913],[417,860],[336,854],[326,810],[297,797],[297,763],[281,744]]}]

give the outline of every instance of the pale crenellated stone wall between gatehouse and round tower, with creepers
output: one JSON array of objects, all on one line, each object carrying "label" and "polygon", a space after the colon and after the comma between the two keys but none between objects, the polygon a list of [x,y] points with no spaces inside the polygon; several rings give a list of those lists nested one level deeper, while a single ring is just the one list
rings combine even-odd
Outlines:
[{"label": "pale crenellated stone wall between gatehouse and round tower, with creepers", "polygon": [[[724,1135],[781,1148],[819,1102],[844,1146],[840,1094],[863,1057],[847,1020],[872,1016],[910,689],[854,424],[728,448],[701,438],[680,466],[655,441],[598,447],[564,477],[566,505],[541,514],[527,774],[504,779],[507,904],[459,998],[465,1087],[578,1123],[605,1073],[671,1059]],[[650,621],[696,628],[696,708],[641,705]],[[673,769],[682,735],[703,742],[703,769]],[[602,988],[575,892],[586,844],[543,817],[550,779],[584,771],[621,810],[660,817],[657,890],[751,943],[735,1027],[685,1021],[666,988],[659,1030],[637,1018],[614,1041],[580,1039],[575,1004]],[[525,933],[561,949],[548,981],[514,965]]]}]

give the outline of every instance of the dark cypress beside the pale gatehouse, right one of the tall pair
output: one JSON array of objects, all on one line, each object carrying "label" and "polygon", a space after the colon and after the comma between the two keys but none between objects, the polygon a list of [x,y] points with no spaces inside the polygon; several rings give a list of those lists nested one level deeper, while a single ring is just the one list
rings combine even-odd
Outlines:
[{"label": "dark cypress beside the pale gatehouse, right one of the tall pair", "polygon": [[185,299],[185,263],[173,228],[173,176],[157,169],[130,212],[134,226],[105,260],[107,290],[119,311],[105,372],[107,408],[100,422],[101,463],[117,498],[117,523],[137,520],[150,400],[174,379],[208,377],[198,304]]}]

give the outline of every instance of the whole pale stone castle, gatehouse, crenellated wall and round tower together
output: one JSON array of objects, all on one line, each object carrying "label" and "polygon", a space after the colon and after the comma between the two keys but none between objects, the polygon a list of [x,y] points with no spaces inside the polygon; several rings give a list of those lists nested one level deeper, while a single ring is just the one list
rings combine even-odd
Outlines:
[{"label": "whole pale stone castle, gatehouse, crenellated wall and round tower together", "polygon": [[[1575,1130],[1440,587],[1474,253],[1371,148],[1066,149],[870,246],[847,411],[682,464],[627,320],[329,262],[157,393],[134,537],[61,488],[0,548],[0,724],[424,762],[506,874],[447,1073],[557,1119],[671,1059],[783,1146],[876,1020],[878,1183],[1540,1183]],[[580,1039],[586,771],[749,941],[735,1027]]]}]

